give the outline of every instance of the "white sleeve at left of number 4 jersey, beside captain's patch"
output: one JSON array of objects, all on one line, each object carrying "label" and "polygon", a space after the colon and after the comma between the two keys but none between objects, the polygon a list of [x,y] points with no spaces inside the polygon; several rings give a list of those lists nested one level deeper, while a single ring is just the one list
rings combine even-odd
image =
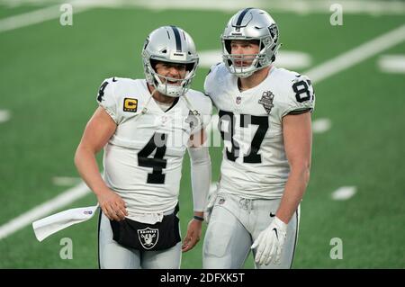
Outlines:
[{"label": "white sleeve at left of number 4 jersey, beside captain's patch", "polygon": [[118,103],[116,95],[114,93],[114,82],[113,78],[107,78],[100,85],[97,94],[97,103],[103,107],[105,112],[107,112],[115,123],[120,123],[121,116],[118,110]]}]

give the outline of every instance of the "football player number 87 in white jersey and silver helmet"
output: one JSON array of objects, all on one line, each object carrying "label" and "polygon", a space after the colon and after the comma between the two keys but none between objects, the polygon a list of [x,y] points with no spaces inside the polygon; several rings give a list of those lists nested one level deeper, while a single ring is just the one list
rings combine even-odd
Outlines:
[{"label": "football player number 87 in white jersey and silver helmet", "polygon": [[240,268],[253,250],[257,268],[290,268],[310,176],[311,81],[273,65],[279,35],[266,11],[240,10],[221,40],[223,63],[204,85],[224,149],[203,267]]}]

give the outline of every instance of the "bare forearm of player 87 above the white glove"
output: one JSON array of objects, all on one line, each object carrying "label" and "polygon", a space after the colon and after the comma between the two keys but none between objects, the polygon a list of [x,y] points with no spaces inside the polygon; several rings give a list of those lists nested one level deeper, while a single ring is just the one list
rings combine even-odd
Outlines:
[{"label": "bare forearm of player 87 above the white glove", "polygon": [[288,223],[302,201],[303,194],[310,180],[310,167],[307,165],[292,166],[284,195],[276,216]]}]

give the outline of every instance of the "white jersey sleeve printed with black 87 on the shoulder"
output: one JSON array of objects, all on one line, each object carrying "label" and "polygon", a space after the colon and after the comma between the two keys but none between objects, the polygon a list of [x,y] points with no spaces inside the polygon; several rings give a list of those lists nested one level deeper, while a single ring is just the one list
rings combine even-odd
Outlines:
[{"label": "white jersey sleeve printed with black 87 on the shoulder", "polygon": [[287,81],[285,94],[279,110],[280,119],[290,112],[300,113],[307,110],[313,112],[315,94],[308,76],[299,75]]}]

